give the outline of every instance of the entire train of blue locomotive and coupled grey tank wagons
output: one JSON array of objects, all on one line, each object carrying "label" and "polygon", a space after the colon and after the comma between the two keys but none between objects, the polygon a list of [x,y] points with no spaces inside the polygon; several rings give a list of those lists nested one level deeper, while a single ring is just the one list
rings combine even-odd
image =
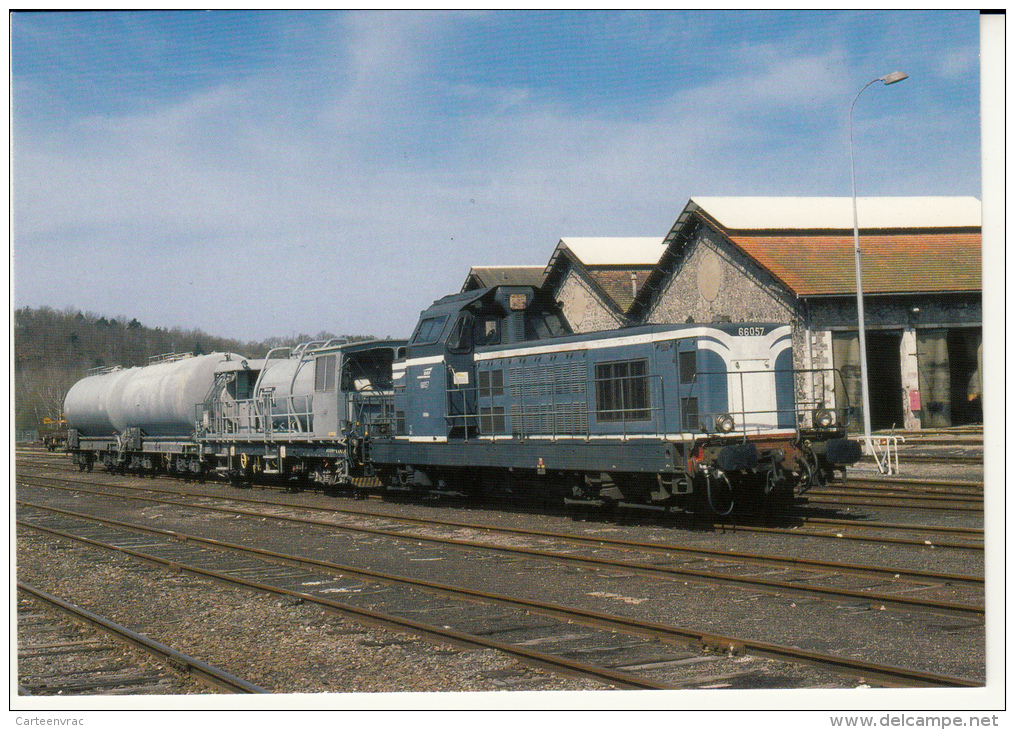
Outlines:
[{"label": "entire train of blue locomotive and coupled grey tank wagons", "polygon": [[845,404],[798,399],[837,374],[794,370],[791,339],[764,323],[574,334],[544,292],[495,286],[434,302],[408,341],[91,376],[67,396],[68,448],[89,469],[723,514],[861,456]]}]

